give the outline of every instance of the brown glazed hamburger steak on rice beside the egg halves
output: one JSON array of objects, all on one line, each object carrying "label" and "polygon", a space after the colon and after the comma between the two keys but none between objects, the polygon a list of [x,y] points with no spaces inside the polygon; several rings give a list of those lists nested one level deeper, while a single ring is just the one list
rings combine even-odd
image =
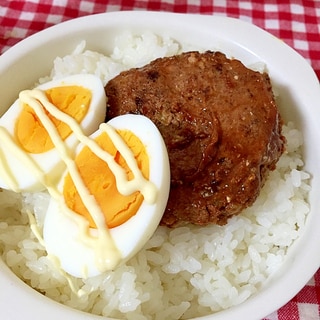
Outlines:
[{"label": "brown glazed hamburger steak on rice beside the egg halves", "polygon": [[166,143],[171,190],[161,224],[225,224],[253,204],[284,150],[269,76],[219,52],[159,58],[109,81],[107,120],[150,118]]}]

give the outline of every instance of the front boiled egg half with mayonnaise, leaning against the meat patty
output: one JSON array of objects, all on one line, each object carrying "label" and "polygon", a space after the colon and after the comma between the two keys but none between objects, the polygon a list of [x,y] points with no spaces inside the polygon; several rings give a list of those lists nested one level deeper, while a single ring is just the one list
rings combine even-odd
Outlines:
[{"label": "front boiled egg half with mayonnaise, leaning against the meat patty", "polygon": [[62,270],[92,277],[130,259],[156,230],[170,188],[166,146],[151,120],[123,115],[77,147],[44,218]]}]

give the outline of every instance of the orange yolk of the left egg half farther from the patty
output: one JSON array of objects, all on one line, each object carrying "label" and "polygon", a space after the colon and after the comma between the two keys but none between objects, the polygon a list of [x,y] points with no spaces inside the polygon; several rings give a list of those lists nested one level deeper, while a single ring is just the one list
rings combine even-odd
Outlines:
[{"label": "orange yolk of the left egg half farther from the patty", "polygon": [[[91,91],[86,88],[63,86],[48,89],[45,93],[49,102],[73,117],[78,123],[83,120],[89,109]],[[63,140],[72,133],[67,124],[49,113],[47,113],[47,116],[54,123]],[[29,153],[42,153],[54,148],[49,134],[35,111],[26,104],[23,105],[15,124],[15,135],[20,146]]]}]

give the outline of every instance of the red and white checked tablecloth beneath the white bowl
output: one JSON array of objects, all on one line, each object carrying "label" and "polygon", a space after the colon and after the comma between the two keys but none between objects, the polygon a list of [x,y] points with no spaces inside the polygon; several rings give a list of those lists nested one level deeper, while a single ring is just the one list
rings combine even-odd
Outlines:
[{"label": "red and white checked tablecloth beneath the white bowl", "polygon": [[[299,52],[320,79],[319,0],[0,0],[0,54],[62,21],[119,10],[197,13],[251,22]],[[320,269],[291,301],[265,319],[320,320]]]}]

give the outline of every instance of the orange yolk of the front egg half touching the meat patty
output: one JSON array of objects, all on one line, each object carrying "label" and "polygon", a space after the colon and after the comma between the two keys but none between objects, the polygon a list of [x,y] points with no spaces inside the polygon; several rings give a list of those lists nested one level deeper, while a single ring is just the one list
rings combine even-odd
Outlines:
[{"label": "orange yolk of the front egg half touching the meat patty", "polygon": [[[139,169],[143,176],[148,179],[149,158],[140,139],[129,130],[118,130],[117,133],[132,150]],[[133,174],[125,159],[121,156],[109,136],[106,133],[102,133],[95,141],[125,169],[128,181],[133,179]],[[136,214],[143,201],[142,194],[139,191],[129,196],[120,194],[116,186],[115,176],[109,166],[88,147],[82,149],[75,162],[86,187],[94,195],[96,202],[100,206],[108,228],[119,226]],[[63,195],[67,206],[74,212],[84,216],[89,221],[91,228],[96,228],[95,222],[84,206],[69,174],[64,181]]]}]

